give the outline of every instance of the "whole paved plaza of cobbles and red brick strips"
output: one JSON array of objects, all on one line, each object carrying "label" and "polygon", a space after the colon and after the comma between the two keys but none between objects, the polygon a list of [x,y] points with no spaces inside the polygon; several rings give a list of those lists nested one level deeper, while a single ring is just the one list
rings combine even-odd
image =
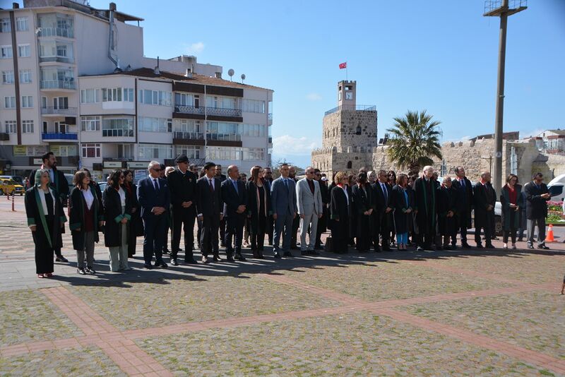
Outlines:
[{"label": "whole paved plaza of cobbles and red brick strips", "polygon": [[38,279],[15,207],[0,197],[0,376],[565,376],[563,228],[550,251],[245,249],[167,270],[143,270],[140,238],[126,273],[102,237],[95,276],[67,232],[71,263]]}]

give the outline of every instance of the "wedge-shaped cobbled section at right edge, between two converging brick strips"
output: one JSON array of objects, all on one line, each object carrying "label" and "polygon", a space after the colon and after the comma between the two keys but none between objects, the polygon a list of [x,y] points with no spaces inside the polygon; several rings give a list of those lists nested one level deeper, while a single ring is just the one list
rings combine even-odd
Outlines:
[{"label": "wedge-shaped cobbled section at right edge, between two converging brick strips", "polygon": [[565,299],[521,292],[396,308],[565,361]]}]

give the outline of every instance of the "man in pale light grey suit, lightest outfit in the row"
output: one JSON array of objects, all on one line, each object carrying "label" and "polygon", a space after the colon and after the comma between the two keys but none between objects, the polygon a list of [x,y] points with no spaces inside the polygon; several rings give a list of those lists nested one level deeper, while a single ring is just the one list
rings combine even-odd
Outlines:
[{"label": "man in pale light grey suit, lightest outfit in the row", "polygon": [[[318,219],[323,214],[323,203],[320,184],[314,180],[313,167],[307,167],[306,178],[297,182],[296,198],[300,215],[300,251],[303,256],[308,254],[319,256],[320,253],[314,250],[314,244],[316,243]],[[308,230],[310,230],[309,244],[306,243]]]}]

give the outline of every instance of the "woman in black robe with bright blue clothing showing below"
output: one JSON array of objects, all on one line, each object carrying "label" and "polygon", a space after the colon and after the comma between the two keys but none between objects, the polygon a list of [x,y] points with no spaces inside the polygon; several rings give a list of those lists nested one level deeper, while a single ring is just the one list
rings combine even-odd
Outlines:
[{"label": "woman in black robe with bright blue clothing showing below", "polygon": [[398,250],[407,250],[408,245],[408,224],[409,217],[412,216],[412,203],[408,195],[408,176],[398,174],[396,186],[391,193],[391,205],[394,208],[394,233],[396,234],[396,244]]}]

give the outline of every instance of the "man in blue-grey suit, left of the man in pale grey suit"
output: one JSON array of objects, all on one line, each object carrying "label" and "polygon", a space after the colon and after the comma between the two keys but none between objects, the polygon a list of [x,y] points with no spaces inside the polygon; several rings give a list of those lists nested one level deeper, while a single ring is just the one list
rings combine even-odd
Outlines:
[{"label": "man in blue-grey suit, left of the man in pale grey suit", "polygon": [[273,181],[270,186],[270,204],[273,208],[273,220],[275,220],[273,251],[275,258],[280,258],[280,235],[283,234],[284,256],[292,256],[290,253],[290,236],[292,232],[292,220],[296,217],[296,184],[288,177],[288,164],[282,164],[279,168],[280,177]]}]

